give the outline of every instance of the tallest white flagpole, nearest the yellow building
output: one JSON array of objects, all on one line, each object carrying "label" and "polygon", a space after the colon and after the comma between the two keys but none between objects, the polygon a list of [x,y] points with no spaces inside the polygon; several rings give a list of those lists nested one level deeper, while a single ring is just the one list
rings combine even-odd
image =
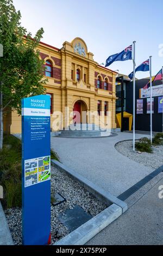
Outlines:
[{"label": "tallest white flagpole, nearest the yellow building", "polygon": [[133,41],[133,151],[135,151],[135,42]]}]

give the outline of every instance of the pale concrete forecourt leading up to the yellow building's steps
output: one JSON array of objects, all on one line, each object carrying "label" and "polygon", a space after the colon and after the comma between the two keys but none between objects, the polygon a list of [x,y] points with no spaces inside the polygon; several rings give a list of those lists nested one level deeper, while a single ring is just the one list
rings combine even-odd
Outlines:
[{"label": "pale concrete forecourt leading up to the yellow building's steps", "polygon": [[[136,134],[135,138],[144,136]],[[52,137],[51,147],[63,164],[117,197],[152,172],[152,168],[130,160],[115,149],[117,142],[132,138],[128,132],[104,138]]]}]

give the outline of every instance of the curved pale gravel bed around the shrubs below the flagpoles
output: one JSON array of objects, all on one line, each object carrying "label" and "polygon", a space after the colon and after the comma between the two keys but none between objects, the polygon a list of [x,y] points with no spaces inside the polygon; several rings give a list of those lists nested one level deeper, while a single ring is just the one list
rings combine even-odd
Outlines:
[{"label": "curved pale gravel bed around the shrubs below the flagpoles", "polygon": [[153,153],[138,153],[136,150],[134,152],[133,141],[119,142],[115,145],[115,148],[122,155],[129,157],[129,159],[139,162],[144,166],[152,167],[154,170],[163,165],[163,145],[153,146]]}]

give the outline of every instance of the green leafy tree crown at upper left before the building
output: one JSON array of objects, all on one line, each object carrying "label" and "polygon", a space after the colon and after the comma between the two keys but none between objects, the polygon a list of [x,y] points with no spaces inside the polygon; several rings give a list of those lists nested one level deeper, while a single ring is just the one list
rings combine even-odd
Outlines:
[{"label": "green leafy tree crown at upper left before the building", "polygon": [[15,10],[12,0],[0,0],[0,43],[3,45],[0,81],[3,113],[12,108],[21,114],[23,97],[45,93],[43,61],[36,50],[43,28],[32,39],[32,34],[27,33],[21,26],[20,20],[21,13]]}]

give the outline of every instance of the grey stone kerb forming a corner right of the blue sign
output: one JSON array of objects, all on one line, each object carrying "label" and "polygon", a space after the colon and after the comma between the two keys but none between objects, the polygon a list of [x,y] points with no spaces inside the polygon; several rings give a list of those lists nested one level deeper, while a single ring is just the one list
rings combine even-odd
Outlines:
[{"label": "grey stone kerb forming a corner right of the blue sign", "polygon": [[72,231],[70,234],[66,235],[59,241],[55,242],[53,244],[54,246],[84,245],[93,236],[97,235],[101,230],[103,230],[111,222],[115,221],[125,211],[127,211],[128,206],[122,200],[112,196],[112,194],[104,191],[102,188],[95,186],[91,181],[74,172],[70,168],[64,166],[64,164],[58,162],[57,160],[51,160],[51,163],[59,170],[62,170],[71,176],[71,178],[76,180],[81,186],[85,187],[86,190],[92,193],[96,198],[104,202],[106,205],[109,205],[108,208],[100,212],[95,217],[91,218],[91,220],[85,222],[79,228]]}]

